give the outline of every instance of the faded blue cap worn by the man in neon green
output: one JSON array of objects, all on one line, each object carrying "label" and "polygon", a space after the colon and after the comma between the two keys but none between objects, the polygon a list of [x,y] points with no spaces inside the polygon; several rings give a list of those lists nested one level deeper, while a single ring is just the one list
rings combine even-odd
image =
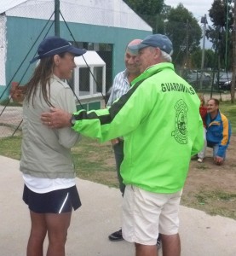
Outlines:
[{"label": "faded blue cap worn by the man in neon green", "polygon": [[132,50],[143,49],[148,46],[158,47],[167,54],[171,55],[173,46],[168,37],[162,34],[149,35],[141,41],[141,44],[130,45],[129,48]]}]

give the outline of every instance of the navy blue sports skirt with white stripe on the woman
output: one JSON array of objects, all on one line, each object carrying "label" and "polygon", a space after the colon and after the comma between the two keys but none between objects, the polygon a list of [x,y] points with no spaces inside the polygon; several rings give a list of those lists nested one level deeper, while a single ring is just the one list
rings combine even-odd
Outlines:
[{"label": "navy blue sports skirt with white stripe on the woman", "polygon": [[39,194],[33,192],[25,185],[23,201],[25,201],[32,212],[37,213],[72,212],[72,208],[77,210],[78,207],[81,207],[76,186]]}]

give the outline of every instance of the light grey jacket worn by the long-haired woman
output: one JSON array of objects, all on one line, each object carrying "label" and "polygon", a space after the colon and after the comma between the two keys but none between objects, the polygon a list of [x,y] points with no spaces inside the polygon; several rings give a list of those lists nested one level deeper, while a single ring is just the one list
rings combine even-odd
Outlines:
[{"label": "light grey jacket worn by the long-haired woman", "polygon": [[[71,148],[78,141],[78,133],[71,128],[50,129],[43,125],[40,115],[49,112],[38,86],[32,102],[23,103],[23,140],[20,171],[33,177],[75,177]],[[54,76],[50,81],[50,102],[55,108],[69,113],[76,110],[75,100],[68,84]]]}]

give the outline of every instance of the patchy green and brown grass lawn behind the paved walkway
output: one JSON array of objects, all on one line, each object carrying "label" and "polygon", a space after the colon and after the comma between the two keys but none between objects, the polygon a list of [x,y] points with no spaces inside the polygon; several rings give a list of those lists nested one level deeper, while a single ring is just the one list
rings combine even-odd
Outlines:
[{"label": "patchy green and brown grass lawn behind the paved walkway", "polygon": [[[226,114],[227,118],[230,119],[233,137],[235,137],[236,104],[232,105],[230,102],[222,102],[220,107],[222,113]],[[20,144],[21,136],[2,138],[0,139],[0,154],[15,160],[20,160]],[[233,156],[236,151],[234,149],[235,147],[229,148],[230,154],[228,154],[228,157],[230,157],[230,159],[227,159],[228,163],[222,167],[222,170],[216,170],[216,166],[211,163],[210,159],[206,160],[201,166],[196,164],[196,162],[191,163],[189,177],[187,178],[185,186],[186,189],[184,190],[186,192],[184,192],[182,196],[182,205],[198,208],[213,215],[219,214],[236,219],[235,189],[228,189],[229,186],[227,187],[227,184],[224,187],[219,187],[222,181],[227,180],[227,175],[231,175],[231,177],[228,177],[231,185],[233,186],[234,183],[234,188],[236,186],[236,180],[234,178],[236,166],[233,164]],[[72,156],[78,177],[118,188],[118,179],[111,143],[107,142],[101,144],[97,143],[96,140],[83,137],[83,139],[72,148]],[[218,179],[210,181],[211,178],[216,178],[216,176],[218,176]],[[199,181],[199,184],[196,183],[196,181]],[[203,186],[201,184],[202,181],[207,185],[204,184]],[[209,186],[208,181],[210,181]],[[214,184],[216,184],[216,186]],[[221,206],[219,205],[220,201],[223,202]],[[224,201],[226,201],[226,203],[224,203]]]}]

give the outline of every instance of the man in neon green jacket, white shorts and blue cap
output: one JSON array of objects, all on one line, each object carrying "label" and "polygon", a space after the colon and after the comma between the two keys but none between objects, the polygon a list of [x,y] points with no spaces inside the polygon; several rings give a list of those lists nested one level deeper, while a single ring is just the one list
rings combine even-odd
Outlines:
[{"label": "man in neon green jacket, white shorts and blue cap", "polygon": [[181,190],[191,155],[204,143],[199,96],[175,73],[169,38],[151,35],[131,50],[139,50],[141,75],[111,108],[73,114],[53,108],[41,119],[101,142],[123,136],[124,239],[135,242],[136,256],[156,256],[159,232],[164,255],[179,256]]}]

